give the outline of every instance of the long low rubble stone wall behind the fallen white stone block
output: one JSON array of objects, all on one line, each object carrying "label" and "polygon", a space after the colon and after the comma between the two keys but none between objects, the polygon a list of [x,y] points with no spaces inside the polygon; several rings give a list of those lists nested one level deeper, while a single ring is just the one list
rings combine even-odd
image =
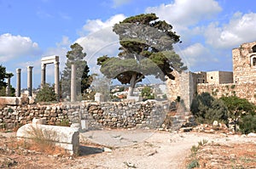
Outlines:
[{"label": "long low rubble stone wall behind the fallen white stone block", "polygon": [[[0,108],[0,128],[13,128],[30,123],[35,118],[46,118],[49,125],[63,121],[81,123],[85,129],[102,127],[149,127],[162,125],[169,102],[77,103],[52,105],[7,105]],[[66,123],[67,125],[67,123]]]}]

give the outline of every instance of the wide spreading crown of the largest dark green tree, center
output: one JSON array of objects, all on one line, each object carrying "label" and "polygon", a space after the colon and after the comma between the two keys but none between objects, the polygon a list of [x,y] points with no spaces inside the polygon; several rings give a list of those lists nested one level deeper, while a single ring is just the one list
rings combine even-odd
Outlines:
[{"label": "wide spreading crown of the largest dark green tree, center", "polygon": [[134,88],[145,76],[154,75],[165,81],[166,76],[174,79],[172,70],[187,69],[172,50],[179,36],[172,31],[172,25],[158,20],[155,14],[127,18],[114,25],[113,31],[119,36],[121,45],[118,57],[104,55],[97,59],[101,72],[108,78]]}]

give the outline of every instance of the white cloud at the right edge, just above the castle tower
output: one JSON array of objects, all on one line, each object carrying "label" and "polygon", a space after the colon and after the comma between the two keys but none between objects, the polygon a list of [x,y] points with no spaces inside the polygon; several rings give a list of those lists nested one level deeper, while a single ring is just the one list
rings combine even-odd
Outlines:
[{"label": "white cloud at the right edge, just above the castle tower", "polygon": [[205,29],[207,43],[214,48],[235,48],[256,39],[256,14],[234,14],[226,25],[211,23]]}]

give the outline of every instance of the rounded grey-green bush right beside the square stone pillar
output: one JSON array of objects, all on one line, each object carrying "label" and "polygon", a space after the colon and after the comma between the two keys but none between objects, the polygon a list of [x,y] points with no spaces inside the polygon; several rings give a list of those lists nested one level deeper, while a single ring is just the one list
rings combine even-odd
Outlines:
[{"label": "rounded grey-green bush right beside the square stone pillar", "polygon": [[190,110],[199,123],[212,124],[213,121],[228,122],[228,109],[220,99],[209,93],[201,93],[192,100]]}]

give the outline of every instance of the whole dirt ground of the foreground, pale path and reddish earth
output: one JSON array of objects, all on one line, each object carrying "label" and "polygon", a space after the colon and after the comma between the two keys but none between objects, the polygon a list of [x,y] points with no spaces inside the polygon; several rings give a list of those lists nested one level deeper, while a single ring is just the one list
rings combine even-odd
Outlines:
[{"label": "whole dirt ground of the foreground, pale path and reddish earth", "polygon": [[[198,146],[200,143],[204,144]],[[198,148],[194,154],[193,145]],[[80,155],[73,157],[23,149],[17,144],[15,132],[0,132],[1,168],[188,168],[194,160],[200,165],[197,168],[255,168],[256,137],[148,130],[90,131],[80,134]]]}]

